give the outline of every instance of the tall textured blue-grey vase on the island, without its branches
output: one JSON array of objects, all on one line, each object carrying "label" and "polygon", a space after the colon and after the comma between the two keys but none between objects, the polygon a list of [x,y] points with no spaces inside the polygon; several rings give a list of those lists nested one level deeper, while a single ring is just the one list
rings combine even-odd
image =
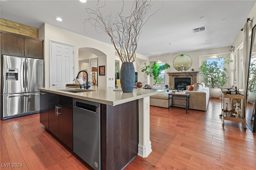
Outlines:
[{"label": "tall textured blue-grey vase on the island, without its branches", "polygon": [[132,93],[135,84],[135,70],[131,62],[123,62],[120,69],[120,84],[124,93]]}]

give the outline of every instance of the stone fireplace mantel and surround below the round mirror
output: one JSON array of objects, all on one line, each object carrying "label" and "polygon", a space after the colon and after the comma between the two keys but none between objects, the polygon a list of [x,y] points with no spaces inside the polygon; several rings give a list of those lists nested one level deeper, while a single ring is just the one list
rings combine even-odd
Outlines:
[{"label": "stone fireplace mantel and surround below the round mirror", "polygon": [[196,81],[196,76],[197,76],[198,71],[180,71],[180,72],[173,72],[173,73],[167,73],[169,75],[169,85],[170,89],[174,88],[174,78],[187,78],[190,77],[191,79],[191,84],[195,84]]}]

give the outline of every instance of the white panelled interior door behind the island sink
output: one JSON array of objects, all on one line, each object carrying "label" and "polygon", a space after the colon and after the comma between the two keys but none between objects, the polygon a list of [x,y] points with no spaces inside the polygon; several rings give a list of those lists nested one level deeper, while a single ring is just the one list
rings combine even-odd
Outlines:
[{"label": "white panelled interior door behind the island sink", "polygon": [[74,47],[51,42],[50,85],[65,87],[74,79]]}]

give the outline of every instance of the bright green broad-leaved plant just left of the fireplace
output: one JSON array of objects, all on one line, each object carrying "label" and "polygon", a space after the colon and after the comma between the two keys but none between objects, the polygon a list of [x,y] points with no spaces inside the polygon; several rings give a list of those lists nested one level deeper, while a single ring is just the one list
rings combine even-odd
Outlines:
[{"label": "bright green broad-leaved plant just left of the fireplace", "polygon": [[170,67],[170,65],[167,63],[165,63],[164,65],[159,65],[156,62],[154,62],[152,67],[150,67],[150,65],[146,65],[146,63],[144,63],[144,65],[145,66],[141,68],[141,71],[145,72],[146,75],[150,75],[150,77],[153,77],[154,85],[156,86],[160,81],[159,75],[161,74],[161,71],[168,69]]}]

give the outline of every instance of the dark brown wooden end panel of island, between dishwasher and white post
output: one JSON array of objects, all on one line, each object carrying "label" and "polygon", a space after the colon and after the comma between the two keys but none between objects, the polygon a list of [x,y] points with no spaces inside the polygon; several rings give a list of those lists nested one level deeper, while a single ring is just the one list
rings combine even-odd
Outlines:
[{"label": "dark brown wooden end panel of island, between dishwasher and white post", "polygon": [[138,101],[100,107],[102,170],[123,169],[138,154]]}]

